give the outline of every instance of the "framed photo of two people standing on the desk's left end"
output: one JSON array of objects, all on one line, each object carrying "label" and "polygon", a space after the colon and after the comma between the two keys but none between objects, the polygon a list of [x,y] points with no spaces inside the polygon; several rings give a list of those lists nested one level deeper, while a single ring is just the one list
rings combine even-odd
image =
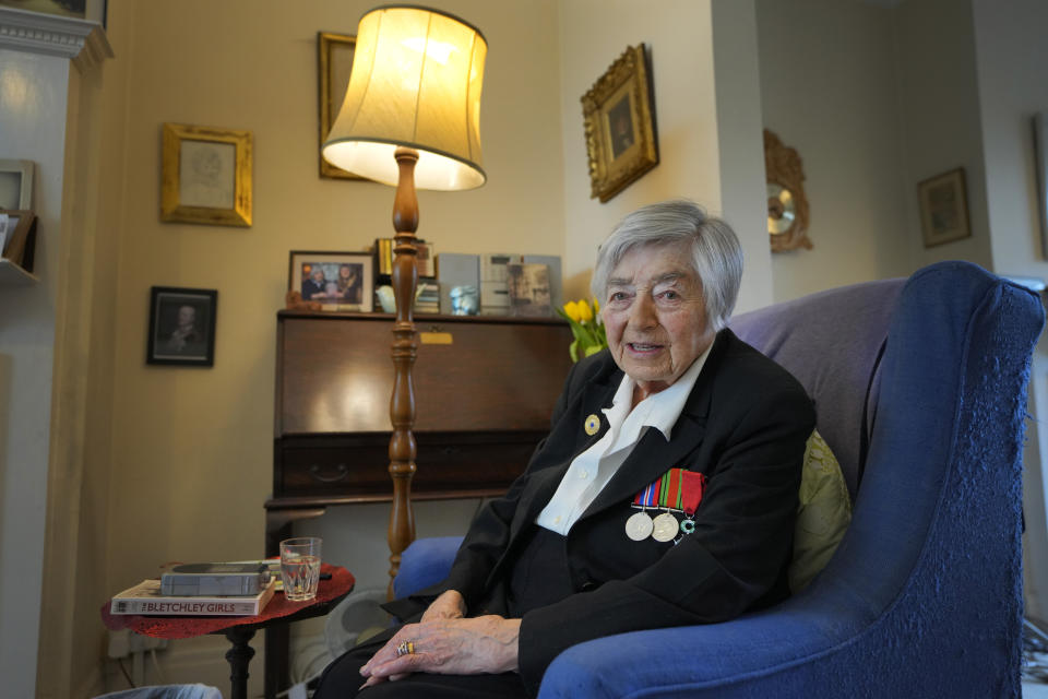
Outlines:
[{"label": "framed photo of two people standing on the desk's left end", "polygon": [[374,261],[370,252],[291,250],[288,291],[321,310],[360,311],[374,307]]}]

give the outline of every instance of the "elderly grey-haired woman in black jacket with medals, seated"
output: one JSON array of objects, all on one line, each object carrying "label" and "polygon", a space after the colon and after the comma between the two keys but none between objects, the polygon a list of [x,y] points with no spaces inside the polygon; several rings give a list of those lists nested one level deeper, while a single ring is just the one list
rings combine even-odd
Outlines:
[{"label": "elderly grey-haired woman in black jacket with medals, seated", "polygon": [[534,696],[575,643],[783,600],[814,411],[725,328],[741,274],[735,234],[696,205],[627,216],[593,276],[608,350],[572,369],[448,579],[389,605],[415,623],[332,663],[315,696]]}]

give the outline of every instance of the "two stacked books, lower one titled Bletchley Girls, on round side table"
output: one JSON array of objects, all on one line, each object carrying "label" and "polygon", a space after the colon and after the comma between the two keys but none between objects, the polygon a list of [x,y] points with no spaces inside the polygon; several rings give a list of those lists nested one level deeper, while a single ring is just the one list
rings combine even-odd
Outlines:
[{"label": "two stacked books, lower one titled Bletchley Girls, on round side table", "polygon": [[[234,571],[235,567],[240,570]],[[253,572],[247,570],[249,567],[253,567]],[[162,580],[143,580],[114,595],[109,603],[109,613],[257,616],[262,614],[265,605],[273,599],[276,583],[277,578],[270,574],[264,564],[179,566],[174,571],[164,573]]]}]

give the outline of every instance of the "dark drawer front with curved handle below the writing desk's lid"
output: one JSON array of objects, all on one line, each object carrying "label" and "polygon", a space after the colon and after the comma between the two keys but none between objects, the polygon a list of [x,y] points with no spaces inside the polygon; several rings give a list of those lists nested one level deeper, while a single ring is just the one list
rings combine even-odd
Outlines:
[{"label": "dark drawer front with curved handle below the writing desk's lid", "polygon": [[[417,434],[412,490],[456,497],[468,496],[471,490],[508,488],[524,471],[543,436]],[[273,495],[392,497],[389,440],[388,434],[277,440]]]}]

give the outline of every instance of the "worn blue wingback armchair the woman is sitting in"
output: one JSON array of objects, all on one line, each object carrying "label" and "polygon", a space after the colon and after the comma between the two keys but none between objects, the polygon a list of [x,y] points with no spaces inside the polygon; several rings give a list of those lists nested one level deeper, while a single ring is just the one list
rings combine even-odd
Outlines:
[{"label": "worn blue wingback armchair the woman is sitting in", "polygon": [[[785,603],[561,653],[539,697],[1017,697],[1026,383],[1036,295],[964,262],[831,289],[731,327],[815,401],[854,499],[829,566]],[[441,580],[419,540],[394,589]]]}]

